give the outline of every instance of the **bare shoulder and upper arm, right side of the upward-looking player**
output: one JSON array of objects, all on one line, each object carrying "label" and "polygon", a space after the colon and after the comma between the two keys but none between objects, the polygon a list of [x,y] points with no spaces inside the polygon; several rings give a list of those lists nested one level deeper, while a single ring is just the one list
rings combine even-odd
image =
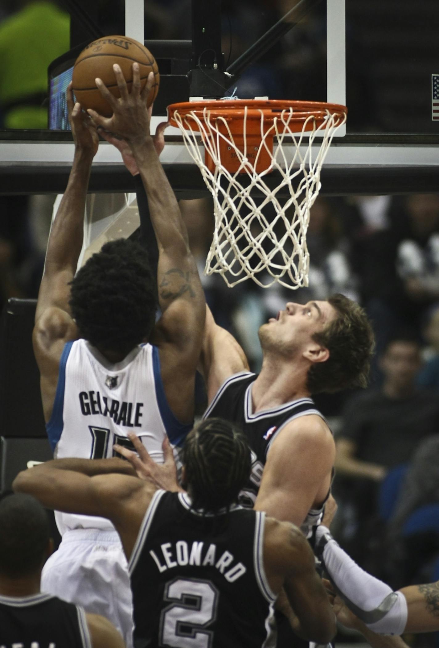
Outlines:
[{"label": "bare shoulder and upper arm, right side of the upward-looking player", "polygon": [[320,417],[291,421],[269,446],[254,508],[300,527],[328,494],[334,455],[332,434]]}]

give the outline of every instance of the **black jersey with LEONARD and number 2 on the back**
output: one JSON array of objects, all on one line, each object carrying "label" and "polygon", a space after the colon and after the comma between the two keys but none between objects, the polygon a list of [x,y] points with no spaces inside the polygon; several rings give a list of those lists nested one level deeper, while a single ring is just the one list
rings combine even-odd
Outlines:
[{"label": "black jersey with LEONARD and number 2 on the back", "polygon": [[186,493],[157,491],[131,559],[135,648],[273,644],[265,514],[202,515]]}]

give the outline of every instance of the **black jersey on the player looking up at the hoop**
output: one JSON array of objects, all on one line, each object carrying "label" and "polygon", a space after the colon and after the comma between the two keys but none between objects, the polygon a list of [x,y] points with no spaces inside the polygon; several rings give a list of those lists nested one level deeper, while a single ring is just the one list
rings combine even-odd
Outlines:
[{"label": "black jersey on the player looking up at the hoop", "polygon": [[[251,475],[245,489],[240,492],[240,504],[246,508],[254,506],[267,452],[282,428],[293,419],[308,414],[317,414],[324,419],[313,399],[308,398],[292,400],[254,414],[251,388],[256,377],[254,373],[243,371],[227,378],[203,416],[204,419],[221,417],[236,423],[249,441],[252,458]],[[323,507],[310,509],[301,527],[306,537],[310,537],[311,528],[319,524],[322,513]]]}]

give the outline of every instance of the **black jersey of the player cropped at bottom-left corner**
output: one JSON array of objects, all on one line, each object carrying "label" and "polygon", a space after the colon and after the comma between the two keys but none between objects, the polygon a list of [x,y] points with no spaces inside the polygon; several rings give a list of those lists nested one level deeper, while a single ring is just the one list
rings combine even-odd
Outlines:
[{"label": "black jersey of the player cropped at bottom-left corner", "polygon": [[0,647],[91,648],[81,607],[50,594],[0,596]]}]

